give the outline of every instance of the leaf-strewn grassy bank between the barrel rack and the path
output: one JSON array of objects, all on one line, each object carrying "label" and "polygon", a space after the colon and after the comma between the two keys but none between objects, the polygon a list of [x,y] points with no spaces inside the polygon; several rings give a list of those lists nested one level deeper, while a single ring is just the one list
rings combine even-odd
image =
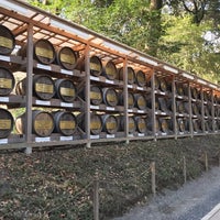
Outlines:
[{"label": "leaf-strewn grassy bank between the barrel rack and the path", "polygon": [[100,179],[100,217],[121,215],[151,197],[150,164],[156,162],[157,190],[201,174],[202,153],[218,162],[220,135],[195,139],[99,144],[34,151],[0,152],[0,219],[92,219],[92,180]]}]

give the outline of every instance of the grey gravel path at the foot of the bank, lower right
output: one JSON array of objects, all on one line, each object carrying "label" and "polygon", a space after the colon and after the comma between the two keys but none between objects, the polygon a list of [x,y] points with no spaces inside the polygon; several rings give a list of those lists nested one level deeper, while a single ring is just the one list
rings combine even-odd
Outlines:
[{"label": "grey gravel path at the foot of the bank, lower right", "polygon": [[220,167],[215,167],[177,191],[166,190],[114,220],[200,220],[219,202]]}]

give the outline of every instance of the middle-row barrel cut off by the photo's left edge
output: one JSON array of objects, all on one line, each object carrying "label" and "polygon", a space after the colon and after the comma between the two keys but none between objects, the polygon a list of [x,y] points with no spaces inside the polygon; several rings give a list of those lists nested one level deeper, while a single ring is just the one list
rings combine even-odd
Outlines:
[{"label": "middle-row barrel cut off by the photo's left edge", "polygon": [[0,96],[8,96],[13,90],[14,84],[13,74],[7,68],[0,67]]}]

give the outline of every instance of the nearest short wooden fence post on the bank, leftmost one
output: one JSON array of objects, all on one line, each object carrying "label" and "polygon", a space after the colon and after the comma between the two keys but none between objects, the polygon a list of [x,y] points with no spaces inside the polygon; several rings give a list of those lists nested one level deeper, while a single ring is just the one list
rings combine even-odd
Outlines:
[{"label": "nearest short wooden fence post on the bank, leftmost one", "polygon": [[94,178],[94,220],[99,220],[99,176],[98,172]]}]

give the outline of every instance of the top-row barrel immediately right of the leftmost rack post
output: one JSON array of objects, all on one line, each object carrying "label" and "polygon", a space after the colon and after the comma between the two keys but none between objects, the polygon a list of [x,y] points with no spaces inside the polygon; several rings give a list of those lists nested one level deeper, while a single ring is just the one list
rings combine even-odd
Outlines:
[{"label": "top-row barrel immediately right of the leftmost rack post", "polygon": [[44,38],[34,42],[33,53],[34,58],[45,65],[52,64],[56,57],[53,44],[48,40]]}]

